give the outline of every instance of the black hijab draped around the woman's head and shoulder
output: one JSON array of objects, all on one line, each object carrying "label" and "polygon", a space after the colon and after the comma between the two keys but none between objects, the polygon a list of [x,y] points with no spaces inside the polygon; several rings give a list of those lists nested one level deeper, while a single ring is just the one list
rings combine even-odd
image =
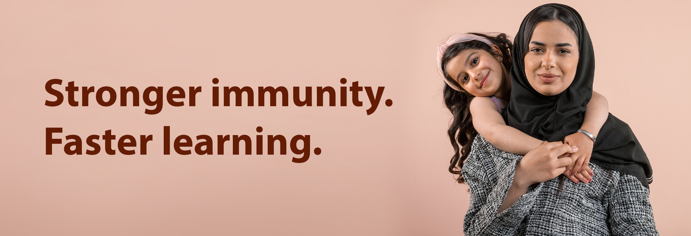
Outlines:
[{"label": "black hijab draped around the woman's head and shoulder", "polygon": [[[557,14],[555,14],[555,12]],[[546,96],[536,91],[525,76],[524,51],[530,41],[536,17],[557,16],[567,25],[576,25],[578,37],[578,68],[573,83],[558,95]],[[532,16],[532,17],[531,17]],[[563,17],[566,16],[566,17]],[[529,25],[529,21],[533,21]],[[571,27],[571,26],[569,26]],[[580,14],[566,5],[549,3],[533,9],[523,19],[513,41],[511,68],[511,100],[504,120],[507,125],[540,140],[562,141],[583,124],[585,106],[590,101],[595,74],[595,54],[590,35]],[[600,129],[590,161],[638,178],[643,186],[652,183],[652,168],[629,125],[609,114]]]}]

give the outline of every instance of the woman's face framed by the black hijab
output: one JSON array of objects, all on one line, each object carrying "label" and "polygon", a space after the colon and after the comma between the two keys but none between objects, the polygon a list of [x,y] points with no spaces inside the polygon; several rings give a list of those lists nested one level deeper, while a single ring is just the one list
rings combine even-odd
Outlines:
[{"label": "woman's face framed by the black hijab", "polygon": [[564,92],[576,77],[578,44],[574,31],[562,21],[535,26],[524,57],[525,76],[542,95]]}]

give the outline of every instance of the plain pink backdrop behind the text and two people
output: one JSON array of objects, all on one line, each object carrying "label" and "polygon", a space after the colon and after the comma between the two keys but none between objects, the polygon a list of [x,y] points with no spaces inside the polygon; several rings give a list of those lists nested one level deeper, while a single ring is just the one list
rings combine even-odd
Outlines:
[{"label": "plain pink backdrop behind the text and two people", "polygon": [[[446,171],[453,149],[437,44],[457,32],[515,35],[542,3],[5,1],[0,235],[460,235],[468,193]],[[657,228],[688,233],[690,4],[563,3],[580,12],[594,42],[595,90],[650,157]],[[363,107],[214,107],[214,77],[255,90],[337,88],[341,77],[386,90],[369,116],[364,92]],[[48,107],[49,79],[62,79],[54,88],[63,92],[75,81],[202,93],[197,106],[166,104],[158,115],[145,115],[143,102],[118,106],[119,98],[111,107],[93,97],[88,107]],[[323,151],[303,164],[290,161],[290,148],[162,155],[162,126],[175,136],[253,139],[262,126],[262,135],[311,135],[311,148]],[[46,127],[64,128],[55,137],[110,129],[154,140],[148,155],[70,156],[62,145],[44,155]]]}]

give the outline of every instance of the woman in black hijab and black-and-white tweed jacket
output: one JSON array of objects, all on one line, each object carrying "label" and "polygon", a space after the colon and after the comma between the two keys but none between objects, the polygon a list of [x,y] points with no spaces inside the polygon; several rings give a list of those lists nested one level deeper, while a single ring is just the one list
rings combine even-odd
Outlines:
[{"label": "woman in black hijab and black-and-white tweed jacket", "polygon": [[478,135],[462,174],[471,203],[466,235],[659,235],[648,184],[652,169],[632,130],[609,115],[589,167],[597,181],[558,177],[571,164],[561,144],[583,122],[591,97],[594,51],[580,14],[550,3],[533,9],[515,37],[509,126],[549,141],[525,156]]}]

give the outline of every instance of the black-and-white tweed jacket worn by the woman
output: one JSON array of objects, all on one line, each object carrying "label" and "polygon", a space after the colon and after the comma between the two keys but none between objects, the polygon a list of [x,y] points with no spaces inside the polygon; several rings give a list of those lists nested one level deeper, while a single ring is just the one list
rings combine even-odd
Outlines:
[{"label": "black-and-white tweed jacket worn by the woman", "polygon": [[462,168],[471,193],[465,235],[659,235],[649,189],[632,175],[592,163],[588,184],[563,176],[533,184],[511,208],[497,213],[522,157],[477,135]]}]

